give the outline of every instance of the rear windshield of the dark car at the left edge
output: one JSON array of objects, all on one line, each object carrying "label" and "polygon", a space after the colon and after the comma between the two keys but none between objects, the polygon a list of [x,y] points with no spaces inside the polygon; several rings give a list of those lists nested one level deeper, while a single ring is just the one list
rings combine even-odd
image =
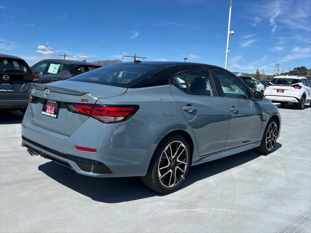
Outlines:
[{"label": "rear windshield of the dark car at the left edge", "polygon": [[22,73],[30,74],[31,71],[25,62],[10,58],[0,59],[0,73]]}]

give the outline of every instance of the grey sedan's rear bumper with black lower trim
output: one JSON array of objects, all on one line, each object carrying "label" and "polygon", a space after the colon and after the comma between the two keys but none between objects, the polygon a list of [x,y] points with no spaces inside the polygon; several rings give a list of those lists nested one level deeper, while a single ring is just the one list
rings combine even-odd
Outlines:
[{"label": "grey sedan's rear bumper with black lower trim", "polygon": [[[29,116],[27,111],[22,122],[22,146],[86,176],[144,176],[156,147],[157,134],[131,119],[103,124],[90,117],[67,136],[32,124]],[[97,152],[77,150],[75,146]]]}]

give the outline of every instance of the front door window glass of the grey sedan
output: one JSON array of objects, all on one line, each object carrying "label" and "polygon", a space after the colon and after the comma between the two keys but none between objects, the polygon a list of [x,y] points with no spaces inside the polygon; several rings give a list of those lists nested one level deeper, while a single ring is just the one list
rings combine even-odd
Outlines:
[{"label": "front door window glass of the grey sedan", "polygon": [[215,70],[215,74],[221,84],[225,97],[249,99],[247,88],[238,80],[221,71]]}]

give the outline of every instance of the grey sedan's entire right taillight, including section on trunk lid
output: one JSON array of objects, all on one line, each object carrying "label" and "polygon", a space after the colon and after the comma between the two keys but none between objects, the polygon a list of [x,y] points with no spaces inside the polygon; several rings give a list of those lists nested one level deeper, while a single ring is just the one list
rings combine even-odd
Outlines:
[{"label": "grey sedan's entire right taillight, including section on trunk lid", "polygon": [[89,105],[79,103],[66,104],[71,112],[91,116],[103,123],[117,123],[133,116],[138,105]]}]

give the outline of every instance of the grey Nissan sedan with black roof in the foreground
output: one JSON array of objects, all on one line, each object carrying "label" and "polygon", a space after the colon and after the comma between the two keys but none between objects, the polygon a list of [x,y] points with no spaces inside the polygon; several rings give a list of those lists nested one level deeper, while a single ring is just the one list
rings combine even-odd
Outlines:
[{"label": "grey Nissan sedan with black roof in the foreground", "polygon": [[272,152],[280,125],[277,107],[224,68],[119,63],[35,84],[22,145],[82,175],[140,176],[169,193],[190,166]]}]

